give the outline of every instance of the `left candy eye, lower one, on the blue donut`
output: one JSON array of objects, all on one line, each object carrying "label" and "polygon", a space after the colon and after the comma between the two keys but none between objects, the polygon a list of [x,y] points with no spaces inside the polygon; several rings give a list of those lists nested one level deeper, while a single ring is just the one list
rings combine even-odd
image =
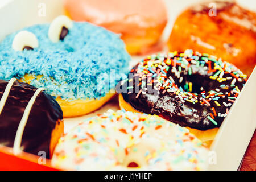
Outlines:
[{"label": "left candy eye, lower one, on the blue donut", "polygon": [[12,48],[15,51],[33,50],[36,47],[38,47],[38,38],[32,32],[20,31],[13,39]]}]

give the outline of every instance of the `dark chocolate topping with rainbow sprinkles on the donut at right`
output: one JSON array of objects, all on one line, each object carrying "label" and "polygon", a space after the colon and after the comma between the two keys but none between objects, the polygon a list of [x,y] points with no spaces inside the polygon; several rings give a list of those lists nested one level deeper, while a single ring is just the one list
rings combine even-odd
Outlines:
[{"label": "dark chocolate topping with rainbow sprinkles on the donut at right", "polygon": [[247,80],[234,65],[191,50],[148,56],[130,73],[119,86],[135,110],[198,130],[221,126]]}]

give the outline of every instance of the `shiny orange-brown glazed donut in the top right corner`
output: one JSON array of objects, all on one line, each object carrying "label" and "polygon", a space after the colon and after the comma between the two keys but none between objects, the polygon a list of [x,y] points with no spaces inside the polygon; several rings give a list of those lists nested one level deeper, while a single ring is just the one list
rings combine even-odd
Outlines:
[{"label": "shiny orange-brown glazed donut in the top right corner", "polygon": [[168,47],[170,51],[195,49],[222,57],[250,75],[256,64],[255,20],[256,13],[234,1],[197,4],[176,19]]}]

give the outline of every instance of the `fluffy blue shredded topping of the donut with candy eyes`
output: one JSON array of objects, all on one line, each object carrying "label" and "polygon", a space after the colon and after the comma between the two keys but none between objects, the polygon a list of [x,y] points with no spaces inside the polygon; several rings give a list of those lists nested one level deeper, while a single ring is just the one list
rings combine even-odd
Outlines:
[{"label": "fluffy blue shredded topping of the donut with candy eyes", "polygon": [[[23,29],[38,39],[39,46],[32,50],[12,48],[19,31],[0,43],[0,79],[22,80],[29,74],[35,77],[32,86],[44,87],[53,97],[71,102],[99,100],[129,72],[130,56],[119,35],[90,23],[73,22],[67,36],[53,43],[48,38],[49,26]],[[36,79],[39,75],[42,78]]]}]

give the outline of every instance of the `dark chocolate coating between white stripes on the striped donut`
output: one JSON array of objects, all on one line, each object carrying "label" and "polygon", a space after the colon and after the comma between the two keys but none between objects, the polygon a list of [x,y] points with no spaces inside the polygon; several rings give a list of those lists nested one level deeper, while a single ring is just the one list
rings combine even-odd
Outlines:
[{"label": "dark chocolate coating between white stripes on the striped donut", "polygon": [[[8,81],[0,80],[0,98]],[[16,131],[24,110],[34,95],[34,86],[15,81],[7,98],[5,107],[0,114],[0,144],[13,147]],[[63,119],[59,104],[46,92],[36,98],[24,129],[20,148],[24,152],[38,155],[45,151],[49,158],[51,133],[56,122]]]}]

